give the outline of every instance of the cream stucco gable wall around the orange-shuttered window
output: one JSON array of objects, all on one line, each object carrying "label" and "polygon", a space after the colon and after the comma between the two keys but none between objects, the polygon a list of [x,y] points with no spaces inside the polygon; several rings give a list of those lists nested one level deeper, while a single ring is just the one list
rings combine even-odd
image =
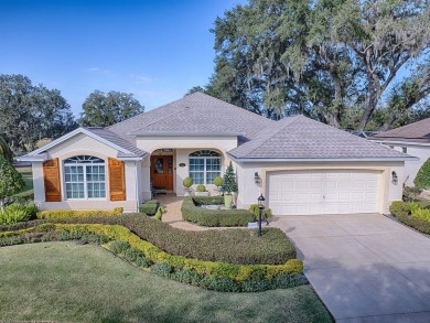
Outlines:
[{"label": "cream stucco gable wall around the orange-shuttered window", "polygon": [[[106,198],[67,200],[64,183],[64,160],[75,155],[94,155],[105,160],[106,170]],[[76,134],[49,149],[47,159],[58,158],[62,202],[45,202],[43,166],[41,162],[33,162],[34,202],[41,209],[112,209],[123,207],[125,212],[136,212],[139,196],[137,192],[137,169],[135,161],[125,162],[127,201],[109,201],[108,158],[117,158],[118,151],[83,133]]]}]

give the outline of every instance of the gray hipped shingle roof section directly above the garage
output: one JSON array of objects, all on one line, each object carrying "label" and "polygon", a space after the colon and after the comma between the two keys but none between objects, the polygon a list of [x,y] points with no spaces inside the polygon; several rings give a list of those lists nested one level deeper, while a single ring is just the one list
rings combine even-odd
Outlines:
[{"label": "gray hipped shingle roof section directly above the garage", "polygon": [[408,159],[386,146],[370,142],[303,116],[289,117],[261,130],[256,139],[228,152],[236,159]]}]

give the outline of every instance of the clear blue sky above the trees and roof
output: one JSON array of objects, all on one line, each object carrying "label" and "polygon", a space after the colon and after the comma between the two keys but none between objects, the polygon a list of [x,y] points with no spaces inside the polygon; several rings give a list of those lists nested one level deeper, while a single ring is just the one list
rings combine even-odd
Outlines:
[{"label": "clear blue sky above the trees and roof", "polygon": [[95,89],[147,110],[213,73],[216,17],[245,0],[0,0],[0,74],[57,88],[78,115]]}]

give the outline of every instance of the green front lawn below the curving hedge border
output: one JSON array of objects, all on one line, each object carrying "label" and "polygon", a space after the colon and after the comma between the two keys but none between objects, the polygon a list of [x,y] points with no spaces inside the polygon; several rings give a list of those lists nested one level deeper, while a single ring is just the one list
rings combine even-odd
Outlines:
[{"label": "green front lawn below the curving hedge border", "polygon": [[76,243],[0,248],[0,320],[60,322],[331,322],[309,286],[207,291]]}]

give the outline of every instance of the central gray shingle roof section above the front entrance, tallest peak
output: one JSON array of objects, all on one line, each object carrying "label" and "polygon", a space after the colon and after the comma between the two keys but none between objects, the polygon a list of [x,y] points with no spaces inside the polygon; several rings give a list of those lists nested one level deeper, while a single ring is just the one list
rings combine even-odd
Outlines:
[{"label": "central gray shingle roof section above the front entrance, tallest peak", "polygon": [[230,133],[244,136],[249,140],[262,128],[275,122],[208,95],[194,93],[107,129],[127,140],[133,140],[133,134],[162,133]]}]

